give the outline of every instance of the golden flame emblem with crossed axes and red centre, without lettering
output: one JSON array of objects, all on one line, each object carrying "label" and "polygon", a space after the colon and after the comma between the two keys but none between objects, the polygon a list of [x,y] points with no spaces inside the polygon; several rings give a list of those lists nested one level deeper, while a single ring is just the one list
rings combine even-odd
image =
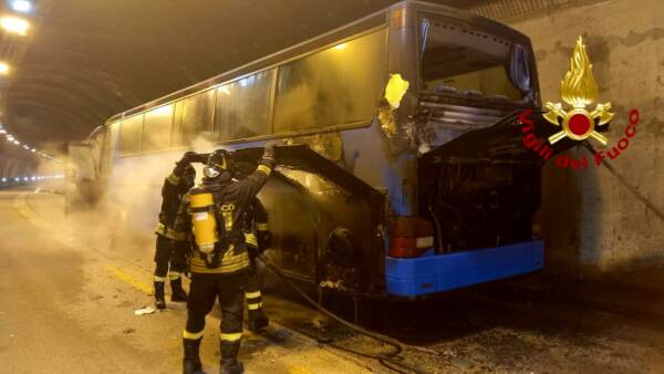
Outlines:
[{"label": "golden flame emblem with crossed axes and red centre, without lettering", "polygon": [[549,143],[556,144],[563,137],[574,141],[584,141],[592,137],[606,145],[606,137],[595,131],[595,126],[608,124],[613,117],[611,103],[601,103],[592,112],[585,106],[598,100],[598,85],[592,76],[592,64],[585,53],[585,44],[581,37],[577,40],[574,52],[570,59],[570,70],[560,82],[560,96],[562,101],[572,106],[566,111],[560,103],[548,102],[544,107],[544,118],[550,123],[562,126],[562,129],[549,137]]}]

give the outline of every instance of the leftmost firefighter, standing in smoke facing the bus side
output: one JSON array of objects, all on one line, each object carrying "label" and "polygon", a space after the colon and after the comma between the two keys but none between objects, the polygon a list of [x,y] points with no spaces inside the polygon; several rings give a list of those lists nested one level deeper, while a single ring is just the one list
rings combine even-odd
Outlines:
[{"label": "leftmost firefighter, standing in smoke facing the bus side", "polygon": [[181,273],[186,262],[181,253],[176,252],[174,246],[175,216],[179,208],[181,197],[194,186],[196,170],[190,165],[193,152],[187,152],[176,164],[170,175],[164,180],[162,187],[162,209],[159,210],[159,222],[155,233],[157,235],[155,250],[155,307],[166,308],[164,295],[164,283],[166,276],[170,279],[170,301],[187,301],[187,292],[183,289]]}]

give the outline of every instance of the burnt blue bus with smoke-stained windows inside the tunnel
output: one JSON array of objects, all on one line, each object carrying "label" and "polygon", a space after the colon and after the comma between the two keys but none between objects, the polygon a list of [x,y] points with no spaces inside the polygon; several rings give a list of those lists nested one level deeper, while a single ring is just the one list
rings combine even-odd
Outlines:
[{"label": "burnt blue bus with smoke-stained windows inside the tunnel", "polygon": [[149,246],[185,150],[256,160],[282,139],[269,259],[321,289],[427,297],[542,268],[542,162],[517,121],[540,106],[528,37],[408,0],[110,117],[91,175]]}]

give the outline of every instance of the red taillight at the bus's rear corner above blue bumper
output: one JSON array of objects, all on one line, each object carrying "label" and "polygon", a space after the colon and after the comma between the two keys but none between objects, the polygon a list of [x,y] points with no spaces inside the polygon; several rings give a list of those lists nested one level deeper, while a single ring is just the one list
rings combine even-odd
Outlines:
[{"label": "red taillight at the bus's rear corner above blue bumper", "polygon": [[390,225],[391,257],[417,257],[434,248],[434,225],[421,217],[394,217]]}]

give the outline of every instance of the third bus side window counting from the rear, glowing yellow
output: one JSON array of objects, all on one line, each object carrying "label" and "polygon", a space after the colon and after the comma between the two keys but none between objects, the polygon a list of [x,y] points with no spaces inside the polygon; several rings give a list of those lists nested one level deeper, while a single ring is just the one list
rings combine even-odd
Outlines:
[{"label": "third bus side window counting from the rear, glowing yellow", "polygon": [[215,90],[186,97],[175,104],[172,145],[190,146],[195,141],[211,141]]}]

